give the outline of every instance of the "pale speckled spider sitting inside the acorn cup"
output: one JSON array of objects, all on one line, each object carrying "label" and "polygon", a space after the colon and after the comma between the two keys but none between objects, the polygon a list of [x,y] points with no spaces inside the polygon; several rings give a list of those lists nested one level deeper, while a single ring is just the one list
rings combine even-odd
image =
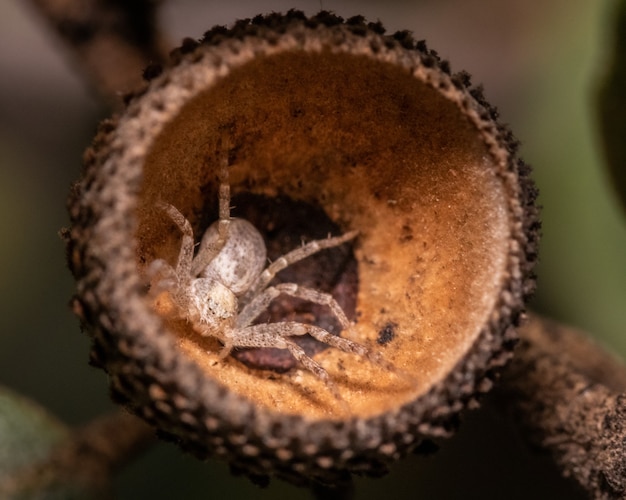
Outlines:
[{"label": "pale speckled spider sitting inside the acorn cup", "polygon": [[309,334],[329,346],[395,371],[380,353],[315,325],[295,321],[253,324],[274,299],[284,294],[327,306],[342,329],[349,329],[352,325],[332,295],[297,283],[270,285],[270,282],[278,272],[295,262],[354,240],[358,231],[311,241],[266,267],[267,252],[259,231],[245,219],[230,217],[227,155],[220,161],[219,178],[219,219],[205,231],[195,256],[189,221],[173,205],[158,203],[182,234],[174,266],[156,259],[148,268],[153,296],[164,291],[169,294],[174,306],[169,314],[187,320],[200,335],[217,338],[223,345],[219,354],[222,359],[238,347],[288,349],[296,361],[322,380],[340,401],[343,399],[328,372],[290,337]]}]

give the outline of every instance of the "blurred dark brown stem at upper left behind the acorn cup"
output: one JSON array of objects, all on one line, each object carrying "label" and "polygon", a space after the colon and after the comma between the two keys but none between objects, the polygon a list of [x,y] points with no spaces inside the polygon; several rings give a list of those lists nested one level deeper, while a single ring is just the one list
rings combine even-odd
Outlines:
[{"label": "blurred dark brown stem at upper left behind the acorn cup", "polygon": [[160,63],[166,44],[155,18],[158,0],[31,0],[77,56],[109,102],[136,89],[142,70]]}]

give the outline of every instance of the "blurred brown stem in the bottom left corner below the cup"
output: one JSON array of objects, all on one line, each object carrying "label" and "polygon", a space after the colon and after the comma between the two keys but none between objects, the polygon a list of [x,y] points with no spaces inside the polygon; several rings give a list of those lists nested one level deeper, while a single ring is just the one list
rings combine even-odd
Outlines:
[{"label": "blurred brown stem in the bottom left corner below the cup", "polygon": [[77,429],[46,460],[17,474],[10,484],[3,486],[10,494],[55,488],[104,491],[111,475],[154,441],[151,427],[121,410]]}]

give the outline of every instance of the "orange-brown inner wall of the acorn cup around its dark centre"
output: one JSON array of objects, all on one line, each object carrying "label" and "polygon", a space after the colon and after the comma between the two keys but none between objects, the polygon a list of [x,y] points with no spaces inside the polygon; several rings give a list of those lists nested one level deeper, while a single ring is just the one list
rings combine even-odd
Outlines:
[{"label": "orange-brown inner wall of the acorn cup around its dark centre", "polygon": [[[194,230],[215,209],[221,130],[234,193],[321,205],[358,229],[358,322],[342,335],[380,351],[410,380],[354,354],[315,356],[349,411],[372,416],[414,400],[467,353],[505,274],[506,193],[475,126],[406,70],[365,56],[287,52],[233,70],[167,124],[145,163],[138,260],[172,260],[180,234],[151,209],[175,205]],[[196,235],[196,239],[199,238]],[[381,346],[380,330],[395,336]],[[219,344],[170,322],[179,348],[234,392],[267,408],[341,418],[306,370],[276,374],[218,358]]]}]

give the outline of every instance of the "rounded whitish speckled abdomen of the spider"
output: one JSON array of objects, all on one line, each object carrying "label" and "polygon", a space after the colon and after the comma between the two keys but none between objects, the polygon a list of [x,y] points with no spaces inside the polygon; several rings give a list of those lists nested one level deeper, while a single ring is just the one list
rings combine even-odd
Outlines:
[{"label": "rounded whitish speckled abdomen of the spider", "polygon": [[[199,252],[218,238],[218,223],[214,223],[204,233]],[[233,218],[226,244],[200,276],[219,281],[239,296],[249,290],[261,274],[266,258],[265,242],[259,231],[247,220]]]}]

